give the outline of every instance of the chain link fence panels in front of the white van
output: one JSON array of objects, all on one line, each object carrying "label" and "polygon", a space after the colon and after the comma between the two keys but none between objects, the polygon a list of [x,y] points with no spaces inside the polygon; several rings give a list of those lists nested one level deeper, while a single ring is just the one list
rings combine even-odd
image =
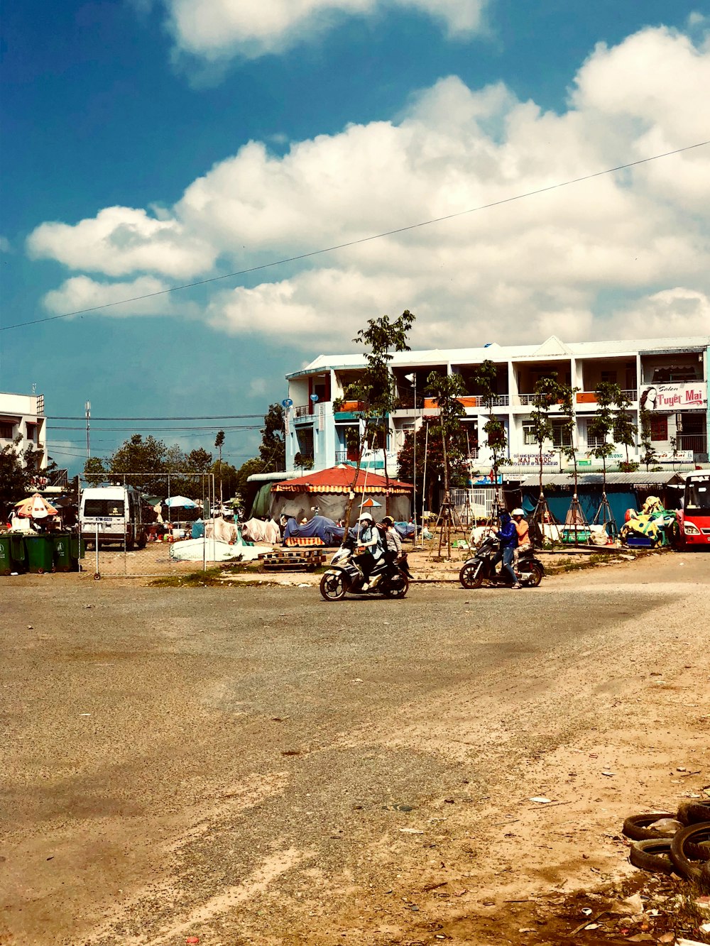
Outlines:
[{"label": "chain link fence panels in front of the white van", "polygon": [[213,567],[210,520],[223,511],[212,473],[121,473],[80,478],[82,571],[95,576],[161,577]]}]

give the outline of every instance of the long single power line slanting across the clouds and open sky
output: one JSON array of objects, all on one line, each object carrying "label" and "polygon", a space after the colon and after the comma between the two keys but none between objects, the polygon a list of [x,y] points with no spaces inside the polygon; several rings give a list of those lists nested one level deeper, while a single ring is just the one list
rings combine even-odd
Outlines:
[{"label": "long single power line slanting across the clouds and open sky", "polygon": [[271,263],[261,263],[259,266],[251,266],[246,270],[237,272],[225,272],[222,276],[210,276],[208,279],[197,279],[192,283],[183,283],[180,286],[171,286],[169,289],[158,289],[156,292],[146,292],[143,295],[132,296],[130,299],[119,299],[117,302],[106,302],[100,306],[89,308],[79,308],[74,312],[63,312],[62,315],[49,315],[44,319],[34,319],[31,322],[18,322],[13,325],[0,325],[0,332],[9,331],[10,328],[24,328],[27,325],[39,325],[44,322],[55,322],[57,319],[68,319],[74,315],[85,315],[88,312],[98,312],[99,309],[112,308],[114,306],[125,306],[130,302],[141,302],[143,299],[152,299],[155,296],[167,295],[169,292],[178,292],[182,289],[194,289],[196,286],[206,286],[208,283],[217,283],[222,279],[233,279],[236,276],[245,276],[250,272],[259,272],[268,270],[275,266],[284,266],[286,263],[295,263],[301,259],[310,259],[312,256],[320,256],[326,253],[334,253],[336,250],[345,250],[351,246],[359,246],[362,243],[369,243],[375,239],[382,239],[384,236],[395,236],[406,233],[409,230],[417,230],[419,227],[428,227],[433,223],[441,223],[444,220],[452,220],[457,217],[464,217],[467,214],[475,214],[480,210],[488,210],[490,207],[500,207],[504,203],[513,201],[522,201],[526,197],[534,197],[536,194],[544,194],[550,190],[557,190],[559,187],[568,187],[570,184],[580,184],[583,181],[591,181],[593,178],[602,177],[605,174],[613,174],[614,171],[627,170],[629,167],[648,164],[649,161],[658,161],[661,158],[671,157],[673,154],[682,154],[683,151],[690,151],[695,148],[703,148],[709,145],[708,141],[699,141],[695,145],[687,145],[685,148],[676,148],[672,151],[665,151],[663,154],[653,154],[648,158],[639,158],[638,161],[630,161],[626,165],[617,165],[615,167],[606,167],[602,171],[595,171],[592,174],[583,174],[581,177],[571,178],[569,181],[560,181],[558,184],[548,184],[546,187],[537,187],[535,190],[525,191],[523,194],[516,194],[514,197],[502,198],[500,201],[490,201],[489,203],[479,204],[477,207],[470,207],[468,210],[458,210],[453,214],[446,214],[443,217],[435,217],[430,220],[421,220],[418,223],[410,223],[408,226],[397,227],[394,230],[385,230],[380,234],[371,236],[361,236],[359,239],[348,240],[346,243],[336,243],[334,246],[324,247],[321,250],[311,250],[309,253],[301,253],[297,256],[287,256],[284,259],[276,259]]}]

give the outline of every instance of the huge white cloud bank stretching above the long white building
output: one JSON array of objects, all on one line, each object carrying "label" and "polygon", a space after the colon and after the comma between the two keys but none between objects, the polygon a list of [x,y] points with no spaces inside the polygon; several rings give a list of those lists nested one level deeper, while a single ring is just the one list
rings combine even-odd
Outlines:
[{"label": "huge white cloud bank stretching above the long white building", "polygon": [[[509,199],[700,141],[707,88],[710,48],[648,28],[595,49],[563,114],[501,83],[470,90],[441,79],[397,120],[351,125],[283,156],[250,142],[172,208],[43,224],[28,246],[77,271],[182,282],[217,262],[228,272],[355,241],[210,296],[212,326],[311,351],[350,347],[364,320],[405,307],[417,314],[413,343],[426,347],[623,336],[649,320],[701,330],[710,148]],[[357,242],[495,201],[509,202]]]}]

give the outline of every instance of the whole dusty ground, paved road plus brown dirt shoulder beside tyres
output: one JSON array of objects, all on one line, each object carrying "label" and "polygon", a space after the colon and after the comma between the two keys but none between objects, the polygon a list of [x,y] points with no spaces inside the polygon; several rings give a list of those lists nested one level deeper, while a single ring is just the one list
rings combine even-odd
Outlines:
[{"label": "whole dusty ground, paved road plus brown dirt shoulder beside tyres", "polygon": [[620,833],[710,796],[710,556],[296,577],[2,580],[1,943],[710,941]]}]

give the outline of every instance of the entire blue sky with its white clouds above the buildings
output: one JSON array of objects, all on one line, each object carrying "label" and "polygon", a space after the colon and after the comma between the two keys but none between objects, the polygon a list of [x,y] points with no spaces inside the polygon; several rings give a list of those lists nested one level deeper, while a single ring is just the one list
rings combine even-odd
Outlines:
[{"label": "entire blue sky with its white clouds above the buildings", "polygon": [[[1,391],[36,384],[50,417],[79,416],[87,398],[95,416],[262,414],[287,371],[406,307],[417,347],[708,331],[708,148],[7,327],[710,138],[701,3],[307,0],[300,19],[294,7],[6,7]],[[74,472],[83,434],[60,429],[71,426],[50,423],[50,453]],[[133,429],[186,448],[211,449],[215,433],[100,426],[98,454]],[[227,429],[226,459],[239,465],[257,442]]]}]

